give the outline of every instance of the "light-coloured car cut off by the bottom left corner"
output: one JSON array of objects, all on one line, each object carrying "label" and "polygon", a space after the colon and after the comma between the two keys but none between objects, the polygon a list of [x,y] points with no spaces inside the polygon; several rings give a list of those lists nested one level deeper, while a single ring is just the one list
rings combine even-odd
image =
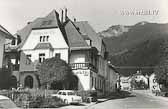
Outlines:
[{"label": "light-coloured car cut off by the bottom left corner", "polygon": [[8,97],[0,95],[0,108],[3,109],[18,109],[18,107],[16,106],[16,104]]}]

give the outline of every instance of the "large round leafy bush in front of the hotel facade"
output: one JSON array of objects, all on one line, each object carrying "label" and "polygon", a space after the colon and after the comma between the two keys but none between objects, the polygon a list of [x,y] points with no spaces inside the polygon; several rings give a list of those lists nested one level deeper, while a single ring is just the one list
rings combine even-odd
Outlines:
[{"label": "large round leafy bush in front of the hotel facade", "polygon": [[69,89],[70,84],[73,82],[71,67],[60,58],[45,59],[37,69],[37,75],[42,87]]}]

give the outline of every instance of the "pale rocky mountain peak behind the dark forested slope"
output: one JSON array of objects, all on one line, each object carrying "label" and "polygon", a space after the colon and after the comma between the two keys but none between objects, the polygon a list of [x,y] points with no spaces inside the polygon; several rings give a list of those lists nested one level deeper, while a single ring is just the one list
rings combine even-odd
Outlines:
[{"label": "pale rocky mountain peak behind the dark forested slope", "polygon": [[131,26],[123,26],[123,25],[114,25],[109,27],[107,30],[99,32],[98,34],[102,37],[117,37],[123,34],[124,32],[128,32]]}]

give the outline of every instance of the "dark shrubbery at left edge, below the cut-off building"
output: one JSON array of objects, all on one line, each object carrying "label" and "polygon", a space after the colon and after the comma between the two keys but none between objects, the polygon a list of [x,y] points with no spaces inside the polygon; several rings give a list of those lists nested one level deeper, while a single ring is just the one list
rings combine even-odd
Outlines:
[{"label": "dark shrubbery at left edge, below the cut-off building", "polygon": [[6,68],[0,69],[0,89],[9,89],[11,80],[11,70]]}]

